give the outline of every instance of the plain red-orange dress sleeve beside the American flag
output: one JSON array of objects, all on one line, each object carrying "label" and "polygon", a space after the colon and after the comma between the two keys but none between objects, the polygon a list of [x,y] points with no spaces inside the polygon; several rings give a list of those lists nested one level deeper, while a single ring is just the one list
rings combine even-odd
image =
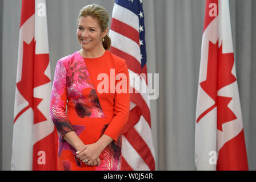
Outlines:
[{"label": "plain red-orange dress sleeve beside the American flag", "polygon": [[[107,129],[105,130],[104,134],[108,135],[109,137],[117,141],[123,127],[125,126],[129,118],[130,111],[130,82],[129,72],[125,61],[122,61],[122,64],[119,65],[117,71],[117,81],[115,82],[115,86],[116,90],[114,101],[114,117],[111,119],[109,126],[107,126]],[[118,90],[118,88],[121,89]]]}]

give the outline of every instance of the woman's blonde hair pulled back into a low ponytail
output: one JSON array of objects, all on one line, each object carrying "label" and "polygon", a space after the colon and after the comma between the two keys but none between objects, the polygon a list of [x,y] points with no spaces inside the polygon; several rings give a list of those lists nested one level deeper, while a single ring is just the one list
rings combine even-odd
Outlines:
[{"label": "woman's blonde hair pulled back into a low ponytail", "polygon": [[[108,27],[109,24],[109,14],[105,10],[104,7],[99,6],[99,5],[87,5],[83,7],[80,10],[77,22],[79,22],[79,19],[81,17],[86,17],[86,16],[91,16],[92,18],[97,18],[99,22],[99,26],[101,26],[101,31],[105,31],[106,28]],[[108,35],[106,35],[103,38],[102,46],[106,49],[109,50],[111,44],[111,39]]]}]

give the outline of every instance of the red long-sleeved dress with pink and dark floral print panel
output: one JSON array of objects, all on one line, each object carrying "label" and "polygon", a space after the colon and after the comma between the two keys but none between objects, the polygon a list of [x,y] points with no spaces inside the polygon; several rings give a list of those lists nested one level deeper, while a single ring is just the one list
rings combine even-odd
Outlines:
[{"label": "red long-sleeved dress with pink and dark floral print panel", "polygon": [[[115,89],[116,88],[116,89]],[[66,109],[67,107],[67,109]],[[51,119],[59,133],[59,170],[120,170],[121,130],[129,117],[129,72],[125,60],[109,51],[88,59],[79,54],[58,60],[51,91]],[[100,166],[87,166],[63,136],[75,131],[83,143],[113,138],[99,155]]]}]

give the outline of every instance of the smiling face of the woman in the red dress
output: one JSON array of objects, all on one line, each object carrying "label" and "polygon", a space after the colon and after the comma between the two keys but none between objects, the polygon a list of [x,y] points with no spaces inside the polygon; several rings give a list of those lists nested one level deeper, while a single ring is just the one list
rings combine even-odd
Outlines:
[{"label": "smiling face of the woman in the red dress", "polygon": [[95,51],[102,47],[102,39],[107,29],[102,32],[97,18],[91,16],[81,17],[78,21],[77,39],[85,51]]}]

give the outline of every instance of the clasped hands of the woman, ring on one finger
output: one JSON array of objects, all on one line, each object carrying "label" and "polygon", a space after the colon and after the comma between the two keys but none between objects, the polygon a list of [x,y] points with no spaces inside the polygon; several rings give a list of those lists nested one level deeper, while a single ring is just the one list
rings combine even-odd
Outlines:
[{"label": "clasped hands of the woman, ring on one finger", "polygon": [[99,166],[101,164],[99,155],[102,151],[103,149],[97,143],[86,144],[77,151],[77,158],[82,161],[87,160],[88,162],[85,163],[87,166]]}]

